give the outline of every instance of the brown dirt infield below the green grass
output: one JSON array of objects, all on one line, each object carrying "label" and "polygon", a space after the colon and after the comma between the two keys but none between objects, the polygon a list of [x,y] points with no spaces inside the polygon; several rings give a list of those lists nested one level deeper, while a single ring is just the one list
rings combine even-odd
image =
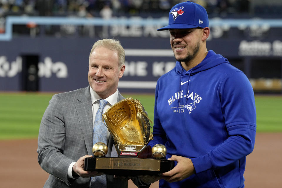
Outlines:
[{"label": "brown dirt infield below the green grass", "polygon": [[[282,133],[257,133],[254,151],[247,156],[246,188],[282,185]],[[37,162],[37,140],[0,141],[0,187],[43,187],[48,174]],[[136,187],[129,182],[129,188]],[[157,188],[158,182],[150,188]]]}]

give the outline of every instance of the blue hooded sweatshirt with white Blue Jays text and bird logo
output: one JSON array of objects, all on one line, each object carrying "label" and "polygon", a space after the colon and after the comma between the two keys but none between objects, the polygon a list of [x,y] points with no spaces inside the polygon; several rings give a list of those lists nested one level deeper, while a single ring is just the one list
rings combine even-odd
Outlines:
[{"label": "blue hooded sweatshirt with white Blue Jays text and bird logo", "polygon": [[194,68],[180,62],[156,86],[154,139],[167,158],[189,157],[196,174],[162,188],[244,187],[246,155],[254,149],[256,107],[246,75],[210,50]]}]

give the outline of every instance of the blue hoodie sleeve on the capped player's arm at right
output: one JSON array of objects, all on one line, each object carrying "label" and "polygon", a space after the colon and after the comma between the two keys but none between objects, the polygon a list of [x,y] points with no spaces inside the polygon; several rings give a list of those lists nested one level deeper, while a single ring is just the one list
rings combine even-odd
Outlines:
[{"label": "blue hoodie sleeve on the capped player's arm at right", "polygon": [[228,138],[205,155],[191,159],[196,173],[226,166],[254,149],[256,107],[253,88],[242,72],[226,76],[218,89]]}]

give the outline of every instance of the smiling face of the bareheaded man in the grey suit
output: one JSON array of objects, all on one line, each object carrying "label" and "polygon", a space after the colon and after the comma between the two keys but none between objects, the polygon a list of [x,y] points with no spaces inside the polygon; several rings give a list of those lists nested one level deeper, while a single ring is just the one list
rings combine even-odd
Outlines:
[{"label": "smiling face of the bareheaded man in the grey suit", "polygon": [[118,66],[117,51],[97,47],[90,55],[88,82],[91,88],[105,99],[117,91],[118,81],[124,70],[125,65]]}]

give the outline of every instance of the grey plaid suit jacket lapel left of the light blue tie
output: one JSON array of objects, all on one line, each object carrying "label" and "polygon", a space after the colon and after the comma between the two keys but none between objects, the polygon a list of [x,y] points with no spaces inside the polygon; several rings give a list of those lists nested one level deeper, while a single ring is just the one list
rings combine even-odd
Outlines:
[{"label": "grey plaid suit jacket lapel left of the light blue tie", "polygon": [[82,130],[84,142],[87,148],[88,155],[92,155],[93,147],[93,113],[90,95],[90,86],[85,88],[77,96],[78,103],[75,105],[80,127]]}]

